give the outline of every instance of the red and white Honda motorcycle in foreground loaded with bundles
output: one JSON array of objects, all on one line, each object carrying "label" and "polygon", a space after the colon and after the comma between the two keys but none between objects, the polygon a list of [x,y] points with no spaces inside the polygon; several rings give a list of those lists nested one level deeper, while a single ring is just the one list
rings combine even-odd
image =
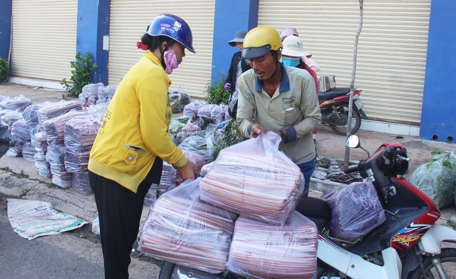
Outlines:
[{"label": "red and white Honda motorcycle in foreground loaded with bundles", "polygon": [[[377,190],[386,220],[363,238],[347,242],[332,237],[325,228],[331,211],[322,199],[303,197],[296,210],[317,226],[316,279],[426,279],[455,278],[456,249],[441,248],[456,243],[456,231],[435,224],[440,210],[435,202],[401,176],[409,170],[405,147],[382,144],[372,156],[361,147],[358,136],[346,142],[361,148],[368,158],[346,173],[359,171]],[[453,264],[449,266],[449,264]],[[225,271],[209,274],[164,262],[160,279],[243,278]]]}]

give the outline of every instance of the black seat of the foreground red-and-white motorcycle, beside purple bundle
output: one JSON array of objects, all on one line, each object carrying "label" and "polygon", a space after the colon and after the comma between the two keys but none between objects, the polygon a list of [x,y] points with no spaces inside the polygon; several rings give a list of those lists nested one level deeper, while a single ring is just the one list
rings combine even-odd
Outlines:
[{"label": "black seat of the foreground red-and-white motorcycle, beside purple bundle", "polygon": [[311,219],[320,232],[325,227],[326,222],[331,219],[331,210],[322,199],[302,197],[295,210]]}]

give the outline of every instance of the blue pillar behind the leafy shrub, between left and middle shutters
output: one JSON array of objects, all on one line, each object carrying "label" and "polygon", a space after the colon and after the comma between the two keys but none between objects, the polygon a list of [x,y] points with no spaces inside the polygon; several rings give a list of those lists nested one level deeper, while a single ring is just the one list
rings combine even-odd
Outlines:
[{"label": "blue pillar behind the leafy shrub, between left and middle shutters", "polygon": [[110,5],[110,0],[78,0],[76,52],[87,55],[90,51],[97,64],[92,82],[104,85],[108,84],[108,50],[103,50],[103,37],[109,36]]}]

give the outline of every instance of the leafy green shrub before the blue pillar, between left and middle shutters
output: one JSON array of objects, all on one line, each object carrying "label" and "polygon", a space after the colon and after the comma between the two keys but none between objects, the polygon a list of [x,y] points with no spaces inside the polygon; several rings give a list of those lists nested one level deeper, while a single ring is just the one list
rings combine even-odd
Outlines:
[{"label": "leafy green shrub before the blue pillar, between left and middle shutters", "polygon": [[92,64],[92,61],[90,51],[87,52],[86,56],[81,56],[81,52],[78,51],[76,61],[70,62],[71,67],[74,68],[71,71],[73,76],[70,79],[73,81],[73,85],[67,84],[67,78],[64,78],[60,84],[65,87],[71,97],[78,97],[83,87],[92,83],[92,72],[97,68],[97,65]]}]

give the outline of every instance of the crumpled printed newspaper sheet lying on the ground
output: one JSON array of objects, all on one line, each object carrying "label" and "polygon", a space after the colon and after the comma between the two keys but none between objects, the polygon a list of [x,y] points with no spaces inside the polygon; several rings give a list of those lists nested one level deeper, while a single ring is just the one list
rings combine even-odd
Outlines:
[{"label": "crumpled printed newspaper sheet lying on the ground", "polygon": [[28,240],[77,229],[88,222],[55,210],[51,203],[8,199],[8,219],[14,232]]}]

